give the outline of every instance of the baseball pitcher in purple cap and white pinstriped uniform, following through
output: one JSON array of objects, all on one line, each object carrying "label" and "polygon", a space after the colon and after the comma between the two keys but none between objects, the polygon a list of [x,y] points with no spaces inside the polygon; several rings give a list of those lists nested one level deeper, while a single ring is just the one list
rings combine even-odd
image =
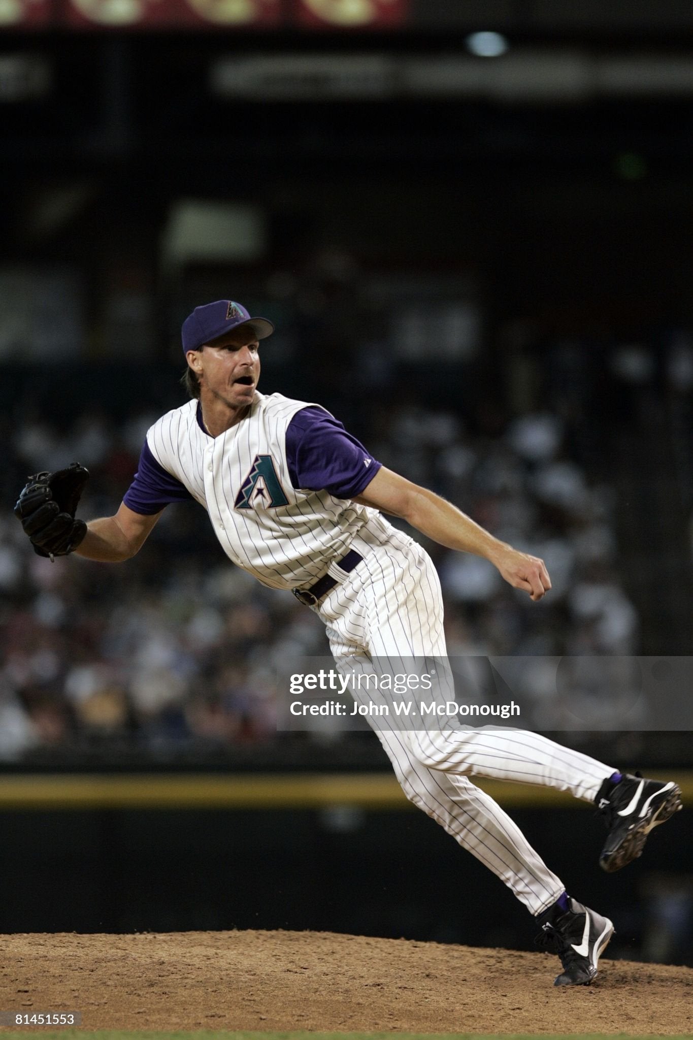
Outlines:
[{"label": "baseball pitcher in purple cap and white pinstriped uniform, following through", "polygon": [[[234,301],[197,307],[183,324],[190,400],[148,432],[117,513],[86,524],[75,518],[83,467],[30,477],[15,512],[36,552],[129,560],[166,505],[193,498],[234,564],[265,586],[292,591],[319,615],[338,665],[356,655],[445,657],[435,569],[383,514],[403,518],[449,549],[490,561],[534,602],[551,590],[541,560],[385,469],[324,409],[260,393],[260,341],[272,332],[270,321]],[[612,922],[566,893],[510,817],[470,778],[543,784],[594,802],[608,825],[599,859],[608,872],[639,856],[649,831],[681,808],[676,784],[621,774],[527,731],[376,733],[406,797],[536,917],[540,944],[562,963],[556,985],[591,983]]]}]

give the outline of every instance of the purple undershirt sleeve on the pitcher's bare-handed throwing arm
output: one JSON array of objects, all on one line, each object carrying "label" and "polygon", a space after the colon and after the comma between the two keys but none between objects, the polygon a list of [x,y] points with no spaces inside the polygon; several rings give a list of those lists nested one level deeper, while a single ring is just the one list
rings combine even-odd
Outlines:
[{"label": "purple undershirt sleeve on the pitcher's bare-handed throwing arm", "polygon": [[293,488],[328,491],[353,498],[366,488],[382,463],[322,408],[303,408],[287,427],[287,464]]}]

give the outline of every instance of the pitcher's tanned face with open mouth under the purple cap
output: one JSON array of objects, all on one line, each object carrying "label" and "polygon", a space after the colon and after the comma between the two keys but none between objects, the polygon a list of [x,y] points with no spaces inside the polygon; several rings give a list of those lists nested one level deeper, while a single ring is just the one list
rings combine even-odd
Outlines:
[{"label": "pitcher's tanned face with open mouth under the purple cap", "polygon": [[188,352],[188,364],[197,373],[203,396],[211,395],[230,408],[250,405],[260,379],[260,344],[251,329],[241,327]]}]

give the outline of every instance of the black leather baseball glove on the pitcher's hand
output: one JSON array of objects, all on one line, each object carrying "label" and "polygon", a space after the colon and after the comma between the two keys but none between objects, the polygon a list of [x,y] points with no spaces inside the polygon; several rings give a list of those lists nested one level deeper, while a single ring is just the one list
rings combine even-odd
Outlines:
[{"label": "black leather baseball glove on the pitcher's hand", "polygon": [[39,556],[66,556],[86,535],[83,520],[75,520],[89,471],[74,462],[55,473],[30,476],[15,506],[15,516]]}]

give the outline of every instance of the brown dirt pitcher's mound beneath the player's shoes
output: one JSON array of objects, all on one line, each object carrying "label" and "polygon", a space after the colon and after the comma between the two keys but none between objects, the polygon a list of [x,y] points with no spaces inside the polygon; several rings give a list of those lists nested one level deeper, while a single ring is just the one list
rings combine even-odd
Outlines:
[{"label": "brown dirt pitcher's mound beneath the player's shoes", "polygon": [[[693,969],[327,932],[7,935],[0,1009],[85,1029],[693,1034]],[[5,1030],[4,1032],[6,1032]],[[2,1031],[0,1031],[2,1032]]]}]

